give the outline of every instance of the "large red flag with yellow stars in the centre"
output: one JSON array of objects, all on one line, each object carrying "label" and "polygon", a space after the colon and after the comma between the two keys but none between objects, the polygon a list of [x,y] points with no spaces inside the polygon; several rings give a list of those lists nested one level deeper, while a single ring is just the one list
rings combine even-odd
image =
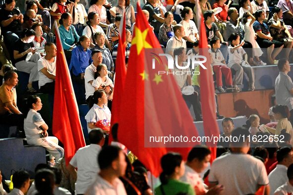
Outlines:
[{"label": "large red flag with yellow stars in the centre", "polygon": [[158,176],[161,157],[176,151],[186,159],[198,133],[173,75],[160,74],[168,71],[164,52],[139,5],[131,44],[118,139]]}]

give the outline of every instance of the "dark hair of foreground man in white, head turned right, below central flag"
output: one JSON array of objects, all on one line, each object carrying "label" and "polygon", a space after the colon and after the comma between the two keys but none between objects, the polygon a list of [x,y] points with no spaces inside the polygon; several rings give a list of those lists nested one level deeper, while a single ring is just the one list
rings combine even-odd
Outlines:
[{"label": "dark hair of foreground man in white, head turned right, below central flag", "polygon": [[100,169],[107,169],[111,167],[112,162],[119,157],[121,148],[113,145],[105,146],[98,155],[98,163]]}]

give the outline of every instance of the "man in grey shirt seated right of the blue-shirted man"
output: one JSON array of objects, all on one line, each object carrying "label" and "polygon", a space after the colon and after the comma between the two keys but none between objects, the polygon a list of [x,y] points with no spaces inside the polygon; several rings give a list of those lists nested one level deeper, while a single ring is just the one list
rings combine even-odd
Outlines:
[{"label": "man in grey shirt seated right of the blue-shirted man", "polygon": [[111,52],[108,48],[105,47],[105,34],[102,32],[95,33],[95,40],[96,40],[96,46],[92,50],[99,50],[103,54],[103,64],[107,66],[107,69],[110,73],[110,77],[113,78],[114,76],[114,61],[111,56]]}]

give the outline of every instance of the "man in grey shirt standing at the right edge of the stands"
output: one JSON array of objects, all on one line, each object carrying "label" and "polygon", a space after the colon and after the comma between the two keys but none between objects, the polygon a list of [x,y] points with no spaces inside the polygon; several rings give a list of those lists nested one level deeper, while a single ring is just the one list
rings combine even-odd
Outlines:
[{"label": "man in grey shirt standing at the right edge of the stands", "polygon": [[288,72],[291,70],[288,59],[280,59],[278,62],[280,70],[275,81],[276,102],[286,105],[290,110],[290,122],[293,124],[293,82]]}]

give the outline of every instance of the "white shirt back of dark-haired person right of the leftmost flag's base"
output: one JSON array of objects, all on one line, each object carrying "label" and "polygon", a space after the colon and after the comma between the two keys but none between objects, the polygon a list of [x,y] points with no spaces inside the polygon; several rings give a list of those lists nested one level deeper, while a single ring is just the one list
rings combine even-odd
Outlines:
[{"label": "white shirt back of dark-haired person right of the leftmost flag's base", "polygon": [[91,186],[100,172],[97,162],[101,146],[90,144],[79,148],[69,164],[77,168],[77,180],[75,183],[75,195],[84,194]]}]

